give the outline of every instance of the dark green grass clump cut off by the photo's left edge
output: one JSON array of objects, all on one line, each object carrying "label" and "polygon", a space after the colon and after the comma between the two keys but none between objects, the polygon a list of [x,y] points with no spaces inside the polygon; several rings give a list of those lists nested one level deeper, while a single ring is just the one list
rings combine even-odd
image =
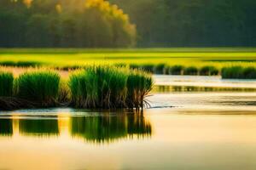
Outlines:
[{"label": "dark green grass clump cut off by the photo's left edge", "polygon": [[10,97],[13,95],[14,75],[11,72],[0,71],[0,96]]}]

